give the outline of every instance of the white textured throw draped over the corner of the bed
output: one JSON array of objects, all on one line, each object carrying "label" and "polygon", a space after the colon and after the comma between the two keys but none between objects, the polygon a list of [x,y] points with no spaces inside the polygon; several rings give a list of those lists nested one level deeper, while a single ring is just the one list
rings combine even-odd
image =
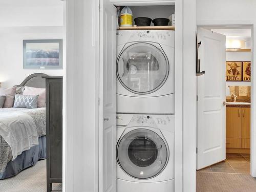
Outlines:
[{"label": "white textured throw draped over the corner of the bed", "polygon": [[32,146],[38,145],[36,123],[30,115],[24,113],[28,111],[16,108],[0,110],[0,135],[11,147],[12,160]]}]

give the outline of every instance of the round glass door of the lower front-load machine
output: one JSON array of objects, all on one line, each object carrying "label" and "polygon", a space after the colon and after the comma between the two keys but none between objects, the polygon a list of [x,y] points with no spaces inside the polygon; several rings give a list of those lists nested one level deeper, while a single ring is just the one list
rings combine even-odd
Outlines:
[{"label": "round glass door of the lower front-load machine", "polygon": [[166,142],[148,129],[136,129],[120,138],[117,161],[128,175],[137,179],[150,179],[162,172],[168,162]]}]

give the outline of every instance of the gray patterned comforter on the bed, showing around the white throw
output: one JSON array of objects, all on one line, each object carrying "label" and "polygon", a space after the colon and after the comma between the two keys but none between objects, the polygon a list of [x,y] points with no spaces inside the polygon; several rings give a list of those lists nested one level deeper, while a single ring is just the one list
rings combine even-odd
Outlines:
[{"label": "gray patterned comforter on the bed, showing around the white throw", "polygon": [[[4,108],[0,109],[1,113],[20,112],[29,115],[33,118],[36,125],[38,138],[46,135],[46,109],[19,109],[19,108]],[[0,173],[3,173],[7,163],[13,159],[10,145],[0,135]]]}]

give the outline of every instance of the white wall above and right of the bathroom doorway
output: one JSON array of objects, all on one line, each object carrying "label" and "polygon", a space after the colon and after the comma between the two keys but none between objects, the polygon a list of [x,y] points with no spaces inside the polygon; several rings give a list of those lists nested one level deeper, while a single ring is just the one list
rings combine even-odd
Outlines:
[{"label": "white wall above and right of the bathroom doorway", "polygon": [[[197,25],[247,25],[253,29],[253,45],[256,45],[256,1],[254,0],[197,0]],[[256,56],[256,50],[253,49],[253,55]],[[256,74],[256,68],[253,67],[252,74]],[[256,177],[256,78],[251,78],[251,175]],[[193,144],[193,143],[191,143]]]}]

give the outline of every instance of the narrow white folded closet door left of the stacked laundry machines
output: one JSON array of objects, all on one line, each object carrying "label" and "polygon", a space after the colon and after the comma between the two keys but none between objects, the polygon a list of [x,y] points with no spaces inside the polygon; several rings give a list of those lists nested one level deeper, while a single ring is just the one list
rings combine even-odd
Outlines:
[{"label": "narrow white folded closet door left of the stacked laundry machines", "polygon": [[99,191],[115,192],[116,7],[109,0],[100,1],[99,19]]}]

